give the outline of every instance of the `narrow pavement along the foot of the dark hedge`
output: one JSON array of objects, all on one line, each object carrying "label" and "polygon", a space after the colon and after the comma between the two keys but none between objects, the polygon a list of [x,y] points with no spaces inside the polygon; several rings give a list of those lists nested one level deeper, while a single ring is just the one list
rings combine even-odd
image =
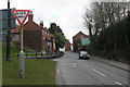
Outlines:
[{"label": "narrow pavement along the foot of the dark hedge", "polygon": [[130,64],[128,64],[128,63],[123,63],[123,62],[120,62],[120,61],[114,61],[114,60],[107,60],[107,59],[104,59],[104,58],[101,58],[101,57],[91,57],[91,59],[130,72]]}]

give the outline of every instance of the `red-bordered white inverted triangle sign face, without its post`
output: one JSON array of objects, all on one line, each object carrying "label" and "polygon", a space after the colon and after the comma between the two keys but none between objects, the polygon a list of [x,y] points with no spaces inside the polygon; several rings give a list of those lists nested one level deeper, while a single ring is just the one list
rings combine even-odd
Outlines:
[{"label": "red-bordered white inverted triangle sign face, without its post", "polygon": [[30,10],[11,10],[20,25],[23,25],[26,21]]}]

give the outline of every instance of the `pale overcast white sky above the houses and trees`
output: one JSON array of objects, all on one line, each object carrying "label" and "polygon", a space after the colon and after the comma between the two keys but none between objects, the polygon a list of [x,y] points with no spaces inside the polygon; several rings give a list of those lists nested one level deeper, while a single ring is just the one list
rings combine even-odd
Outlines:
[{"label": "pale overcast white sky above the houses and trees", "polygon": [[[11,8],[32,11],[37,24],[43,21],[43,26],[49,28],[51,23],[56,23],[70,42],[80,30],[88,35],[82,15],[89,3],[89,0],[10,0]],[[8,0],[2,0],[0,9],[6,8]]]}]

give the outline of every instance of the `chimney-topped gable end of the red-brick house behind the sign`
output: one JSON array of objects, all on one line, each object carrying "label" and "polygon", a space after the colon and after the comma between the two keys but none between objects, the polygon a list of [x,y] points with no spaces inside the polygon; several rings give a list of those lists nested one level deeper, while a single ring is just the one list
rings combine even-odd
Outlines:
[{"label": "chimney-topped gable end of the red-brick house behind the sign", "polygon": [[24,48],[36,52],[42,51],[42,29],[34,22],[34,14],[28,15],[28,22],[23,25]]}]

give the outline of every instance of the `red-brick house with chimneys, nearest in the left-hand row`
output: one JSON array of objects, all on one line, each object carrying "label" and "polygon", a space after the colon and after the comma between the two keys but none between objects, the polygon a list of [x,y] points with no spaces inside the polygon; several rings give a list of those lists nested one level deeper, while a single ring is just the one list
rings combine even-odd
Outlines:
[{"label": "red-brick house with chimneys, nearest in the left-hand row", "polygon": [[[43,27],[42,21],[38,25],[37,23],[34,22],[32,18],[34,15],[29,14],[28,22],[23,25],[24,49],[31,49],[35,50],[36,52],[43,53],[54,52],[55,50],[54,36],[48,32],[47,27]],[[16,29],[12,30],[13,33],[12,35],[15,35]]]}]

